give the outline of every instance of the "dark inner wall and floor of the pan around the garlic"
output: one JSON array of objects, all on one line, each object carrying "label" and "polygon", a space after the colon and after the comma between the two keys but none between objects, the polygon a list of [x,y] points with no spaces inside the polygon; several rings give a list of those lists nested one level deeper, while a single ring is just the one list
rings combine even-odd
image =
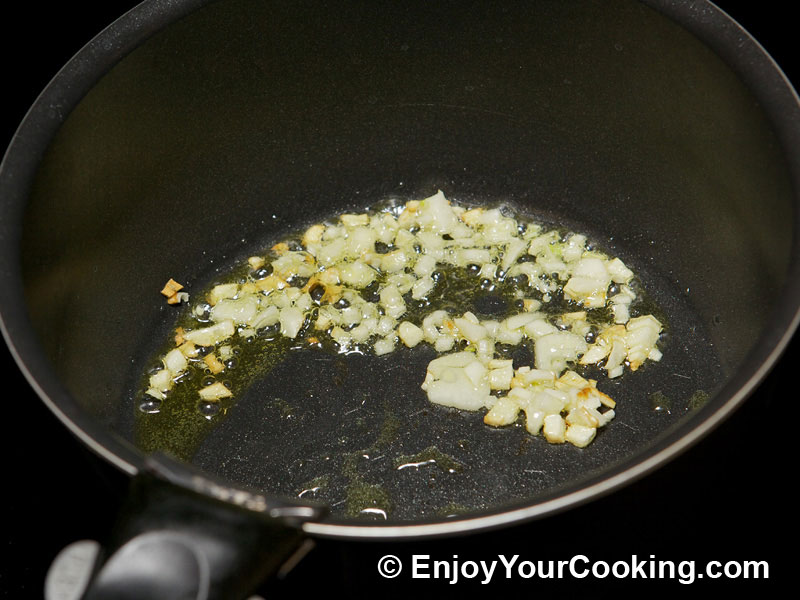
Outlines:
[{"label": "dark inner wall and floor of the pan around the garlic", "polygon": [[633,1],[333,4],[211,3],[64,122],[22,261],[70,401],[133,441],[139,377],[175,319],[164,281],[202,289],[303,223],[442,189],[588,233],[663,308],[664,359],[608,383],[621,408],[597,440],[554,447],[432,407],[425,351],[299,353],[184,458],[342,519],[376,497],[392,519],[438,519],[611,473],[691,423],[698,390],[724,402],[755,368],[793,235],[780,143],[737,75]]}]

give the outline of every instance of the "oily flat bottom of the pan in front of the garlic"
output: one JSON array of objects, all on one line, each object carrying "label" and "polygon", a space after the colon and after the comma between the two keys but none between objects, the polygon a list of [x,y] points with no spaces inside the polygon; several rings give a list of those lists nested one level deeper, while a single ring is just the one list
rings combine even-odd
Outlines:
[{"label": "oily flat bottom of the pan in front of the garlic", "polygon": [[[380,357],[289,352],[237,391],[224,416],[204,417],[188,392],[168,398],[158,413],[136,413],[134,439],[145,451],[168,451],[225,479],[323,502],[336,520],[419,521],[525,503],[628,458],[631,448],[676,426],[722,383],[697,312],[668,281],[644,278],[652,292],[645,312],[655,309],[666,324],[665,357],[614,380],[587,370],[618,401],[619,415],[587,448],[548,444],[521,422],[497,430],[483,423],[482,412],[431,404],[420,383],[437,354],[426,344]],[[476,306],[466,308],[480,312]],[[692,343],[681,343],[686,339]],[[258,352],[272,364],[271,352]],[[132,406],[146,398],[145,387],[140,381],[134,389]]]}]

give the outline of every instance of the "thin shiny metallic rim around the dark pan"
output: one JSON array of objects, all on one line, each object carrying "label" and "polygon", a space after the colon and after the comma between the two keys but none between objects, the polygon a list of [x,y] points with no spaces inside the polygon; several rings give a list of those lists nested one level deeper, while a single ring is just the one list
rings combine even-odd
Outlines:
[{"label": "thin shiny metallic rim around the dark pan", "polygon": [[[677,21],[687,29],[692,30],[693,27],[695,33],[702,31],[707,35],[709,23],[724,23],[726,27],[722,28],[723,31],[720,32],[719,43],[723,43],[723,37],[729,40],[731,36],[746,40],[748,45],[742,51],[748,54],[742,56],[740,60],[749,62],[750,69],[755,69],[752,64],[756,63],[761,69],[765,66],[769,67],[769,74],[762,73],[759,77],[771,76],[782,80],[781,91],[784,96],[788,92],[787,98],[793,103],[794,109],[800,108],[800,100],[780,67],[752,36],[713,3],[704,2],[699,11],[696,7],[690,11],[689,6],[696,3],[684,0],[677,2],[669,0],[639,1]],[[69,110],[64,110],[63,115],[51,118],[44,126],[41,123],[34,126],[36,119],[42,117],[38,109],[50,103],[55,97],[59,98],[62,106],[71,108],[108,69],[128,52],[163,27],[209,2],[210,0],[146,0],[109,25],[81,49],[42,91],[20,124],[2,163],[0,163],[0,196],[10,197],[12,201],[9,203],[13,204],[14,196],[19,199],[20,196],[25,195],[26,190],[19,189],[18,181],[25,178],[25,172],[20,169],[20,166],[27,163],[30,174],[36,164],[33,157],[36,157],[49,144],[50,138],[69,114]],[[704,19],[693,20],[693,17],[702,11],[705,11]],[[690,23],[692,27],[689,26]],[[115,43],[106,43],[109,40],[114,40]],[[708,43],[707,39],[704,41]],[[729,60],[726,62],[730,64]],[[91,72],[91,75],[88,75],[88,72]],[[75,77],[82,77],[77,85],[72,81]],[[69,90],[65,91],[67,88]],[[798,165],[795,164],[794,167],[797,169]],[[22,177],[20,177],[20,173]],[[6,193],[12,189],[14,193]],[[8,203],[4,200],[2,207],[4,217],[6,204]],[[16,204],[21,206],[22,202],[16,202]],[[796,221],[797,216],[795,215],[795,230],[797,230]],[[0,264],[3,276],[9,277],[9,273],[11,276],[16,274],[16,267],[12,263],[17,256],[13,248],[18,237],[11,233],[12,226],[16,221],[3,218],[0,222],[2,222],[0,235],[3,239],[3,248],[11,250],[11,252],[3,252]],[[797,330],[800,324],[800,301],[798,300],[800,298],[800,283],[798,283],[800,282],[800,277],[798,277],[800,264],[797,260],[800,255],[800,241],[797,237],[795,235],[792,243],[792,261],[789,265],[787,284],[784,287],[782,298],[777,303],[765,331],[754,344],[748,357],[745,358],[745,363],[757,365],[757,367],[754,366],[746,376],[740,374],[740,377],[728,382],[717,395],[718,401],[722,400],[722,403],[716,407],[713,413],[702,420],[697,419],[697,422],[693,423],[693,427],[688,430],[680,429],[680,435],[672,434],[655,451],[648,451],[643,455],[639,454],[633,459],[624,461],[610,475],[606,474],[600,477],[599,481],[522,508],[495,510],[489,514],[431,523],[376,525],[308,522],[303,525],[304,531],[320,537],[375,539],[433,537],[493,529],[552,515],[599,498],[643,477],[677,457],[717,427],[750,396],[777,363]],[[54,381],[52,376],[48,377],[49,365],[39,351],[38,342],[25,315],[22,298],[22,289],[18,282],[15,285],[5,286],[5,289],[0,291],[0,330],[2,330],[6,344],[18,367],[49,410],[83,444],[123,472],[135,475],[141,469],[143,455],[129,442],[102,427],[88,414],[83,413],[66,390],[57,381]]]}]

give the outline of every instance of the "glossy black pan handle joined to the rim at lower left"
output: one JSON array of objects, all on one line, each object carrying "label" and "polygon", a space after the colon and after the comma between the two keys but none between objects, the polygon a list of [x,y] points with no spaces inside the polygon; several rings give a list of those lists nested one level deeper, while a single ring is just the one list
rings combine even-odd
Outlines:
[{"label": "glossy black pan handle joined to the rim at lower left", "polygon": [[167,456],[153,456],[131,480],[88,585],[68,597],[244,599],[307,550],[310,540],[300,525],[325,512],[233,489]]}]

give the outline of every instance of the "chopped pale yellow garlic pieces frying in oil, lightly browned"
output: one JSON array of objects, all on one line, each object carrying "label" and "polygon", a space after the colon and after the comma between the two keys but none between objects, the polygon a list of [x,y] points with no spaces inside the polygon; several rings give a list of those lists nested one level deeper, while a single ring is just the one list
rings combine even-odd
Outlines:
[{"label": "chopped pale yellow garlic pieces frying in oil, lightly browned", "polygon": [[[327,336],[340,352],[370,348],[380,356],[399,343],[430,344],[442,354],[429,363],[422,383],[431,402],[487,409],[484,421],[492,426],[515,423],[524,412],[531,434],[584,447],[614,418],[616,404],[571,366],[600,364],[614,378],[626,366],[636,370],[662,356],[657,345],[663,325],[652,315],[631,318],[634,273],[622,260],[588,250],[582,234],[562,237],[535,224],[520,227],[498,208],[460,207],[441,191],[399,209],[344,214],[338,222],[312,225],[291,245],[280,242],[266,254],[270,258],[249,257],[248,265],[256,271],[270,261],[270,275],[259,279],[253,273],[244,282],[216,285],[208,304],[194,308],[204,326],[179,332],[176,347],[162,358],[164,368],[149,378],[147,395],[166,399],[192,362],[222,372],[220,357],[228,360],[233,353],[225,342],[237,328],[249,338],[279,325],[282,336],[298,340],[295,345],[300,340],[319,345]],[[476,288],[515,278],[519,311],[482,320],[432,305],[427,314],[417,314],[413,306],[435,297],[436,271],[448,265],[469,267]],[[298,278],[304,282],[295,283]],[[186,302],[181,289],[170,280],[162,294],[169,303]],[[577,306],[556,315],[548,303],[561,291]],[[591,318],[595,309],[606,308],[612,322]],[[314,335],[307,336],[303,325],[314,314]],[[596,335],[591,344],[590,334]],[[526,340],[533,346],[533,364],[515,369],[514,361],[498,357],[502,346]],[[466,350],[453,352],[457,344]],[[216,348],[201,357],[199,347]],[[200,396],[214,401],[231,392],[214,383]]]}]

